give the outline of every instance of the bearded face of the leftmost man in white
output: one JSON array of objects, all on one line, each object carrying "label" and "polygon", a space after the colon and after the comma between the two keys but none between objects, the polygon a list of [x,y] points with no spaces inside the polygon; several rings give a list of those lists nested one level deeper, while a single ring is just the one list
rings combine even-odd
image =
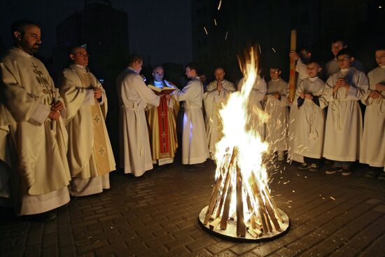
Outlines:
[{"label": "bearded face of the leftmost man in white", "polygon": [[37,52],[41,45],[41,30],[35,25],[29,25],[25,28],[25,32],[15,32],[18,39],[18,46],[29,55]]}]

